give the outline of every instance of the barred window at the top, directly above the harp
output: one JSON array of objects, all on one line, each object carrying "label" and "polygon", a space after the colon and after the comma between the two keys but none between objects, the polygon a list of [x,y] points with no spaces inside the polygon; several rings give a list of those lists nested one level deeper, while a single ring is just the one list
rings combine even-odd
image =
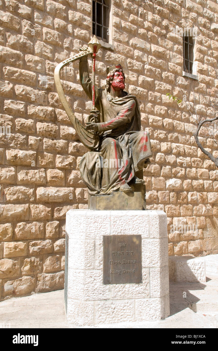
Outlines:
[{"label": "barred window at the top, directly above the harp", "polygon": [[92,34],[101,40],[109,39],[110,0],[92,1]]}]

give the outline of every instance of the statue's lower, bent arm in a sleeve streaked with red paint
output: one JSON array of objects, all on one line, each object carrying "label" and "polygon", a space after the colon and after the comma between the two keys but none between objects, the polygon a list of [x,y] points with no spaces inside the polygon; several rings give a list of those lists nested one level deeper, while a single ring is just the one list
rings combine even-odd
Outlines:
[{"label": "statue's lower, bent arm in a sleeve streaked with red paint", "polygon": [[99,132],[106,132],[108,130],[123,126],[128,122],[131,122],[131,119],[135,113],[135,108],[136,102],[132,100],[129,106],[125,106],[122,110],[119,111],[116,117],[112,118],[110,121],[97,123]]}]

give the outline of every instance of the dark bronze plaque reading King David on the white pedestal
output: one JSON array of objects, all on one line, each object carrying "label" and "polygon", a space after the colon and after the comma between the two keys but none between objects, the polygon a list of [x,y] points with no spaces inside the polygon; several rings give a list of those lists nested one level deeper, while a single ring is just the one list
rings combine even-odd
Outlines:
[{"label": "dark bronze plaque reading King David on the white pedestal", "polygon": [[104,235],[104,284],[141,283],[141,235]]}]

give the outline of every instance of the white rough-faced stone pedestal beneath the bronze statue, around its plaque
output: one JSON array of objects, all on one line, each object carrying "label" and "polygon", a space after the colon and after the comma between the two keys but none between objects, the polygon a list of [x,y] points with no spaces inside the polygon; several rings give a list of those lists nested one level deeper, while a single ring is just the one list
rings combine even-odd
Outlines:
[{"label": "white rough-faced stone pedestal beneath the bronze statue, around its plaque", "polygon": [[[117,235],[141,236],[141,283],[103,283],[103,239]],[[65,261],[68,322],[82,326],[169,316],[168,237],[163,211],[68,211]]]}]

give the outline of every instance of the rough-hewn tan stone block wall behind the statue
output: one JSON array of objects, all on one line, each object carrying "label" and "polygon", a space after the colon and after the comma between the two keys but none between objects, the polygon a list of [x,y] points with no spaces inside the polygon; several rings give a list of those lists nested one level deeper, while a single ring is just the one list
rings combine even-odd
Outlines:
[{"label": "rough-hewn tan stone block wall behind the statue", "polygon": [[[167,214],[170,255],[218,253],[218,173],[197,148],[185,103],[166,97],[178,93],[174,75],[193,101],[189,80],[182,77],[182,38],[171,30],[178,23],[197,25],[203,34],[195,46],[199,81],[193,81],[199,111],[205,111],[204,96],[217,91],[210,45],[216,64],[218,4],[112,3],[115,48],[99,50],[97,84],[105,84],[107,65],[120,62],[126,90],[139,100],[153,149],[144,169],[147,208]],[[11,134],[0,134],[0,299],[5,299],[62,289],[65,214],[87,208],[79,174],[86,150],[62,110],[53,72],[90,40],[92,2],[0,0],[0,27],[0,126],[11,127]],[[68,100],[84,121],[91,101],[79,83],[78,61],[67,82]],[[211,139],[201,140],[218,156]],[[197,224],[198,231],[170,233],[176,223]]]}]

